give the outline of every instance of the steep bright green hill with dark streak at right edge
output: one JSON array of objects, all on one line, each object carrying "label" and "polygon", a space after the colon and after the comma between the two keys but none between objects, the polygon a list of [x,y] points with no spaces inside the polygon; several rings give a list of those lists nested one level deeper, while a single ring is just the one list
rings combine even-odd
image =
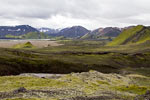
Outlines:
[{"label": "steep bright green hill with dark streak at right edge", "polygon": [[108,46],[140,44],[150,41],[150,27],[143,25],[134,26],[124,30],[116,39],[108,44]]}]

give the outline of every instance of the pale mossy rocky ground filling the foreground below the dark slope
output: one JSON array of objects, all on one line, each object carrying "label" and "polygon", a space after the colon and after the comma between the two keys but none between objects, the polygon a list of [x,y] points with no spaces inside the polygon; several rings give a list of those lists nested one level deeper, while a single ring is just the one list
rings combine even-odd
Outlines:
[{"label": "pale mossy rocky ground filling the foreground below the dark slope", "polygon": [[150,82],[149,77],[142,75],[97,71],[63,75],[24,74],[0,79],[1,100],[134,100],[149,89],[147,84],[139,84],[140,79]]}]

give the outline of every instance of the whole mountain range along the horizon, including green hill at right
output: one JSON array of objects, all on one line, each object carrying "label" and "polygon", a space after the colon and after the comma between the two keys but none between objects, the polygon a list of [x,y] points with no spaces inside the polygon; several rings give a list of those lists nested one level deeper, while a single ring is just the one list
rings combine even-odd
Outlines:
[{"label": "whole mountain range along the horizon, including green hill at right", "polygon": [[102,37],[117,37],[109,45],[122,45],[130,43],[142,43],[149,40],[150,27],[143,25],[129,26],[125,28],[106,27],[93,31],[82,26],[72,26],[64,29],[34,28],[29,25],[0,26],[0,38],[48,38],[65,37],[77,39],[101,39]]}]

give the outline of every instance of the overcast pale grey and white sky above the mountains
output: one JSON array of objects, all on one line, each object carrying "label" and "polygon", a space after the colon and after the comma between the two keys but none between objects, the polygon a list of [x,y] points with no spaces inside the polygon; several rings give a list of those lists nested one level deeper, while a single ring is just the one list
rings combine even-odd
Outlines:
[{"label": "overcast pale grey and white sky above the mountains", "polygon": [[150,25],[150,0],[0,0],[0,26]]}]

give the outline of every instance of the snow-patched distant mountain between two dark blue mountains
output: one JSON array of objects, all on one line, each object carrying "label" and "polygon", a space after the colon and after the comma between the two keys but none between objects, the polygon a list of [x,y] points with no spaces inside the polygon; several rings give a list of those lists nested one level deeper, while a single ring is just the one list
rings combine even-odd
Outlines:
[{"label": "snow-patched distant mountain between two dark blue mountains", "polygon": [[47,35],[56,34],[56,33],[60,32],[59,29],[51,29],[51,28],[44,28],[44,27],[43,28],[38,28],[37,30],[40,31],[40,32],[43,32]]}]

